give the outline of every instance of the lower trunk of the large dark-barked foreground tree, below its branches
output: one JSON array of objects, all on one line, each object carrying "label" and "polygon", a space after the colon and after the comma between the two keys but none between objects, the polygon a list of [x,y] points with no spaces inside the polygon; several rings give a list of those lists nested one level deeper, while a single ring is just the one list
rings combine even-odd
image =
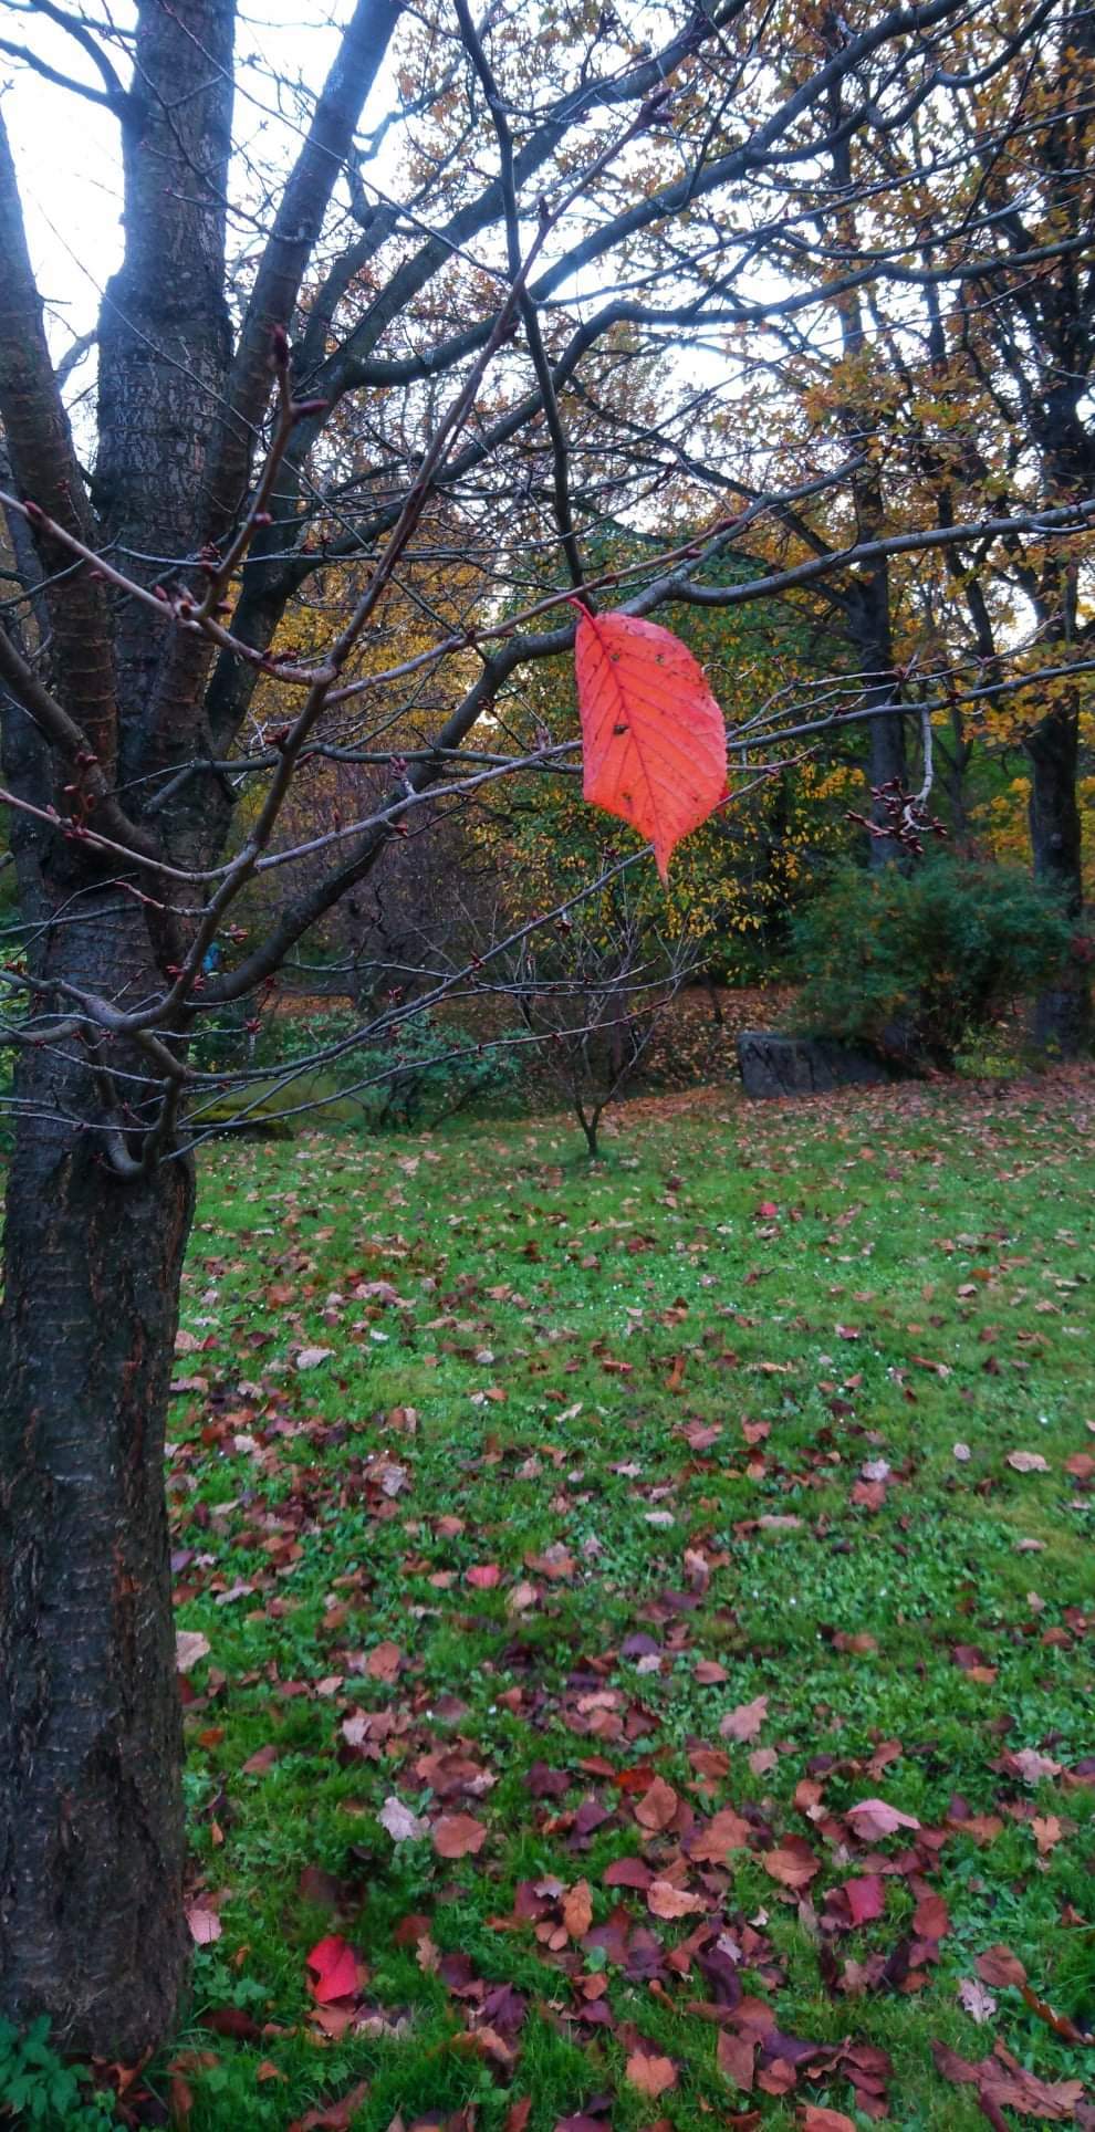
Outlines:
[{"label": "lower trunk of the large dark-barked foreground tree, below its branches", "polygon": [[6,1198],[0,2013],[132,2064],[188,1972],[164,1409],[192,1173],[115,1177],[66,1049],[23,1053]]}]

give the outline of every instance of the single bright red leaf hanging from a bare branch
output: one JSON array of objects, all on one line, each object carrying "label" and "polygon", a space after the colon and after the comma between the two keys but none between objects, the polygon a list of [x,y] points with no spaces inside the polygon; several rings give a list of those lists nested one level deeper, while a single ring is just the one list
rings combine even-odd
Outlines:
[{"label": "single bright red leaf hanging from a bare branch", "polygon": [[726,793],[726,725],[685,644],[634,614],[583,614],[574,637],[585,797],[653,844],[657,872]]}]

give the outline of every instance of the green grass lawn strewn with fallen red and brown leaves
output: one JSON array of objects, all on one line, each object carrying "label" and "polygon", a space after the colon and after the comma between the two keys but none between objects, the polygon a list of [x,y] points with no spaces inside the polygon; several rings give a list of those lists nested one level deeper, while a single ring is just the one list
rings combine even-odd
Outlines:
[{"label": "green grass lawn strewn with fallen red and brown leaves", "polygon": [[205,1156],[190,2132],[1095,2123],[1093,1111]]}]

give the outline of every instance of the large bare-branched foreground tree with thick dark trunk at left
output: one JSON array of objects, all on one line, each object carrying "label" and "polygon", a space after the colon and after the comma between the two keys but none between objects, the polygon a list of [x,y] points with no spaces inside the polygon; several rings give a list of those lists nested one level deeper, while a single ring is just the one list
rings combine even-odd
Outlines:
[{"label": "large bare-branched foreground tree with thick dark trunk at left", "polygon": [[[17,559],[0,682],[19,887],[2,972],[17,1087],[0,2006],[47,2013],[73,2051],[132,2062],[186,1991],[162,1450],[211,1098],[192,1036],[256,1002],[425,804],[527,761],[506,706],[529,663],[570,652],[570,597],[587,612],[734,605],[856,569],[856,554],[873,567],[879,539],[907,552],[943,537],[854,531],[803,554],[794,514],[841,480],[847,439],[790,471],[758,454],[743,486],[704,458],[696,371],[715,362],[726,407],[728,335],[766,301],[749,286],[756,232],[790,177],[905,124],[965,66],[971,21],[988,53],[1014,32],[969,0],[852,6],[839,38],[753,0],[672,0],[660,21],[653,47],[645,6],[574,0],[529,38],[517,6],[478,26],[465,0],[346,0],[318,87],[318,38],[301,36],[299,79],[248,58],[237,96],[231,0],[137,0],[124,23],[105,0],[4,13],[15,94],[60,98],[60,119],[81,98],[109,122],[124,205],[96,397],[70,420],[0,132]],[[978,139],[965,154],[975,162]],[[679,382],[638,433],[608,392],[619,328],[675,354]],[[666,478],[687,486],[679,537],[598,578],[587,535],[606,512],[642,518]],[[1052,544],[1089,510],[1059,486],[1033,514],[997,516]],[[391,601],[423,597],[442,520],[493,571],[493,599],[474,614],[427,599],[425,635],[384,642]],[[785,565],[719,582],[766,522]],[[508,580],[514,548],[551,556],[546,595]],[[356,569],[346,605],[333,597],[318,640],[297,642],[290,603],[339,563]],[[429,716],[410,750],[393,746],[423,676]],[[758,748],[800,712],[758,721]],[[290,834],[286,800],[318,755],[367,755],[386,772],[380,804]],[[271,876],[273,906],[211,974],[209,947]],[[245,1075],[237,1087],[243,1102]]]}]

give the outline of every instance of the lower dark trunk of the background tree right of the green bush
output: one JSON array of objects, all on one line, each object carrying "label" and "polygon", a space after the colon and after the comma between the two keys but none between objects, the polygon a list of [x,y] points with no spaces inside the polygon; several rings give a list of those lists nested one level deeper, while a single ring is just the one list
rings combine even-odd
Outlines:
[{"label": "lower dark trunk of the background tree right of the green bush", "polygon": [[[1031,849],[1035,878],[1072,919],[1084,908],[1082,825],[1076,802],[1080,718],[1061,706],[1027,736],[1031,761]],[[1091,976],[1074,957],[1057,985],[1035,1002],[1035,1043],[1059,1057],[1078,1057],[1091,1043]]]}]

